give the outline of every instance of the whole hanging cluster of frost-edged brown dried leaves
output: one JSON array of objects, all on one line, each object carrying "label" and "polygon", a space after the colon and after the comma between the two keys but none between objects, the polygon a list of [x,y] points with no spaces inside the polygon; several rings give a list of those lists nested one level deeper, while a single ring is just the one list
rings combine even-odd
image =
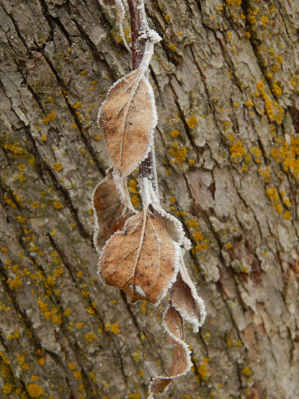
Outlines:
[{"label": "whole hanging cluster of frost-edged brown dried leaves", "polygon": [[[158,305],[168,294],[163,326],[169,345],[175,345],[173,366],[169,376],[153,378],[149,398],[165,391],[173,378],[191,369],[184,320],[191,322],[196,332],[206,316],[203,300],[183,261],[190,241],[179,220],[165,212],[159,201],[153,150],[157,113],[148,80],[157,36],[153,31],[148,34],[149,51],[140,67],[114,83],[99,110],[98,126],[112,167],[92,198],[94,245],[100,251],[98,274],[104,284],[123,290],[130,303],[141,299]],[[140,174],[143,211],[137,213],[130,202],[127,176],[149,154],[153,166],[150,174]]]}]

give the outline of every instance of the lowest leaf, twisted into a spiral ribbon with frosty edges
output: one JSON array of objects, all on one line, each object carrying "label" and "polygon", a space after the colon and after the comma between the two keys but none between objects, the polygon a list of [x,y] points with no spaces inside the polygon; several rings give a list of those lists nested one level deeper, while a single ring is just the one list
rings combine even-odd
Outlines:
[{"label": "lowest leaf, twisted into a spiral ribbon with frosty edges", "polygon": [[184,322],[179,312],[172,306],[171,300],[169,300],[163,314],[163,326],[167,332],[168,343],[176,346],[175,355],[170,375],[165,377],[158,375],[149,384],[149,399],[153,399],[153,395],[156,393],[163,393],[171,380],[186,374],[192,367],[191,352],[184,342]]}]

